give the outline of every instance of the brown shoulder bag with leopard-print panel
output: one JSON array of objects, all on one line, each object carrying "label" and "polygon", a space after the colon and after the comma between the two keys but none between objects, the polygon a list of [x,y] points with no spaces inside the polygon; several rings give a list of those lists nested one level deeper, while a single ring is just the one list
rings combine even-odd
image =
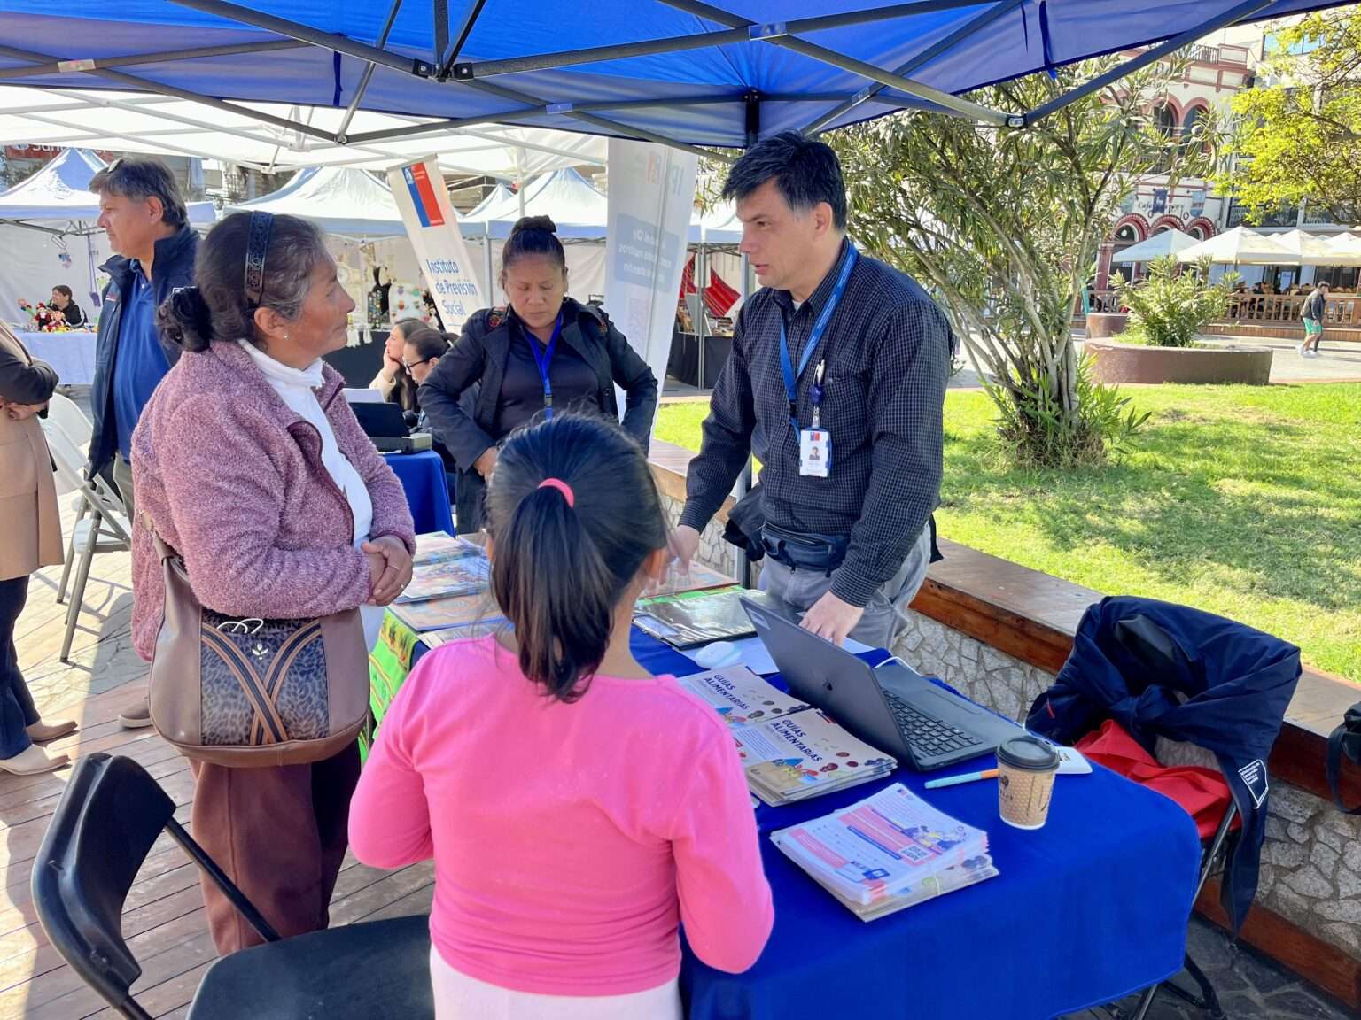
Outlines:
[{"label": "brown shoulder bag with leopard-print panel", "polygon": [[142,515],[165,568],[151,661],[151,722],[186,758],[253,767],[320,762],[369,718],[358,609],[312,620],[234,619],[204,608],[184,560]]}]

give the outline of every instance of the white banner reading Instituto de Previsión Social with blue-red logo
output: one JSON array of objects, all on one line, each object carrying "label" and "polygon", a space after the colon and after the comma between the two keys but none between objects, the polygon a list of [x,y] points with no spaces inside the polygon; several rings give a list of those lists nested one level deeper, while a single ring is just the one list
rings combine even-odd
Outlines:
[{"label": "white banner reading Instituto de Previsi\u00f3n Social with blue-red logo", "polygon": [[392,197],[401,211],[426,287],[440,307],[445,332],[457,333],[468,316],[486,307],[476,269],[459,233],[444,174],[434,159],[388,171]]}]

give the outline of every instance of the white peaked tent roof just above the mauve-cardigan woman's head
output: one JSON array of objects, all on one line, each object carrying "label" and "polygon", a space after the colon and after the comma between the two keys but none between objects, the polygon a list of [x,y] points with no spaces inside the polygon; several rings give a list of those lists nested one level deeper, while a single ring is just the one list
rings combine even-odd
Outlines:
[{"label": "white peaked tent roof just above the mauve-cardigan woman's head", "polygon": [[333,234],[396,237],[407,233],[387,184],[367,170],[313,166],[263,199],[227,205],[223,212],[272,212],[302,216]]}]

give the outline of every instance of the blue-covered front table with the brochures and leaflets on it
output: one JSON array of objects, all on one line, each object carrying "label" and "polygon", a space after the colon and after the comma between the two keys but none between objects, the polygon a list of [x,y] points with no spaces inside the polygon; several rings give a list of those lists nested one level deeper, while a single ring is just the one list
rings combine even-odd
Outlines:
[{"label": "blue-covered front table with the brochures and leaflets on it", "polygon": [[[422,536],[418,560],[431,555],[429,543]],[[389,609],[370,660],[380,728],[423,656],[506,626],[485,589],[486,560],[455,540],[440,545],[433,555],[452,559],[418,564],[415,590]],[[721,581],[706,574],[698,583]],[[632,634],[644,666],[676,676],[724,715],[764,801],[753,797],[774,930],[744,974],[716,971],[685,948],[680,989],[691,1020],[1044,1020],[1181,968],[1200,843],[1177,804],[1071,751],[1063,762],[1077,759],[1079,768],[1051,774],[1040,828],[1003,823],[995,779],[927,789],[928,779],[987,770],[996,759],[932,772],[897,767],[789,696],[778,675],[749,672],[742,662],[769,661],[731,612],[743,594],[708,588],[642,600]],[[725,632],[742,662],[705,672],[691,657],[712,660],[697,651],[706,632]],[[859,658],[874,665],[889,653]],[[917,866],[917,877],[901,877]]]}]

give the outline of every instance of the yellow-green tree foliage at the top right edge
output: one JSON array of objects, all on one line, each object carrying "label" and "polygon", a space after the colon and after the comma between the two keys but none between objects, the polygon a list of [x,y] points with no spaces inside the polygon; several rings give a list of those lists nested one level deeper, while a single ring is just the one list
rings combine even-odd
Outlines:
[{"label": "yellow-green tree foliage at the top right edge", "polygon": [[1312,15],[1274,37],[1259,68],[1274,84],[1233,99],[1236,156],[1218,184],[1253,223],[1307,201],[1338,223],[1361,218],[1361,15]]}]

